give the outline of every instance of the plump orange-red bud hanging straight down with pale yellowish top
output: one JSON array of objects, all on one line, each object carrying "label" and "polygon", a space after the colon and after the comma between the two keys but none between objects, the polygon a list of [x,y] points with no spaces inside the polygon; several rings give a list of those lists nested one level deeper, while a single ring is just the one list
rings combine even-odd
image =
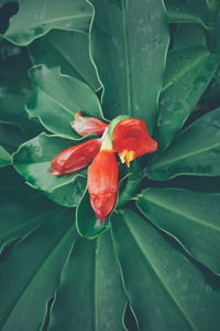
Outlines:
[{"label": "plump orange-red bud hanging straight down with pale yellowish top", "polygon": [[102,222],[112,211],[118,191],[119,167],[108,137],[88,169],[87,186],[90,204],[97,218]]}]

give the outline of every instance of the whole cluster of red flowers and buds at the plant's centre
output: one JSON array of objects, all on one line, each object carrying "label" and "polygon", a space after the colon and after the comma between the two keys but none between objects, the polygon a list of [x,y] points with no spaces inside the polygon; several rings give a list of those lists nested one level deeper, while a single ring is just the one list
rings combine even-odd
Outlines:
[{"label": "whole cluster of red flowers and buds at the plant's centre", "polygon": [[51,162],[51,173],[64,175],[88,168],[87,188],[90,204],[97,220],[105,221],[112,211],[118,192],[119,166],[116,153],[121,162],[130,167],[135,158],[152,153],[157,149],[157,142],[148,136],[144,121],[135,118],[124,118],[116,122],[109,130],[108,124],[75,113],[70,122],[74,130],[81,137],[88,134],[102,135],[69,147],[57,154]]}]

